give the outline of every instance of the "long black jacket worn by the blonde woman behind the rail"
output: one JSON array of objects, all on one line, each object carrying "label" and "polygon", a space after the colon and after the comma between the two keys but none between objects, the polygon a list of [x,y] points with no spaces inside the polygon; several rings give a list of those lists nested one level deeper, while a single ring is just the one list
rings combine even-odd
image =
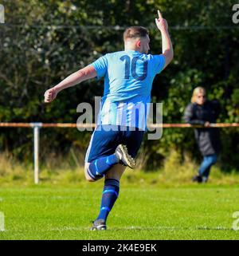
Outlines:
[{"label": "long black jacket worn by the blonde woman behind the rail", "polygon": [[[188,124],[202,124],[206,121],[216,123],[220,113],[218,101],[206,100],[205,104],[188,104],[184,112],[184,120]],[[220,134],[218,128],[195,128],[195,139],[202,156],[218,154],[220,151]]]}]

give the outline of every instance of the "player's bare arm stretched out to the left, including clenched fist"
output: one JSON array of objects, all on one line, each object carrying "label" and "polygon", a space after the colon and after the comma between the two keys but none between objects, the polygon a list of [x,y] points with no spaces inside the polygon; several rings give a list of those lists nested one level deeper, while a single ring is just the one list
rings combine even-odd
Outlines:
[{"label": "player's bare arm stretched out to the left, including clenched fist", "polygon": [[53,101],[56,98],[57,93],[61,92],[61,90],[69,88],[73,85],[77,85],[82,81],[86,81],[93,77],[96,77],[96,69],[90,65],[84,69],[80,69],[75,73],[72,73],[69,77],[66,77],[63,81],[61,81],[61,83],[45,91],[45,102],[49,103]]}]

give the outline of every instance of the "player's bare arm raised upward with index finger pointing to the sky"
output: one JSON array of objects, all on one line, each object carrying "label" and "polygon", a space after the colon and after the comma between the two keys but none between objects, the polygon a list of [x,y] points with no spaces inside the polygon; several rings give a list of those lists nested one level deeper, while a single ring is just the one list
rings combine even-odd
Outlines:
[{"label": "player's bare arm raised upward with index finger pointing to the sky", "polygon": [[163,15],[158,10],[159,18],[155,18],[156,26],[161,32],[162,35],[162,51],[163,56],[165,57],[164,68],[170,64],[174,57],[174,49],[172,42],[170,40],[170,35],[168,33],[167,20],[163,18]]}]

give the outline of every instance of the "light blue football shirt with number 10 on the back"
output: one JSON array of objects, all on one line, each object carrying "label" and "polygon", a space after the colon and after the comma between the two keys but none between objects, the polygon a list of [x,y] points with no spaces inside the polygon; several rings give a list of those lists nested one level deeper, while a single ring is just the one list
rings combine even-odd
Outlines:
[{"label": "light blue football shirt with number 10 on the back", "polygon": [[155,75],[163,70],[165,57],[134,50],[108,53],[91,64],[97,78],[104,77],[104,96],[97,124],[147,126],[147,103]]}]

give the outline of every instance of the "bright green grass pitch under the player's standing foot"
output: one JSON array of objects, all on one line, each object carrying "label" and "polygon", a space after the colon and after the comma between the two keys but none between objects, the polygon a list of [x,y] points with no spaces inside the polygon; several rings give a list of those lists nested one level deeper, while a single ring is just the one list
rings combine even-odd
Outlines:
[{"label": "bright green grass pitch under the player's standing foot", "polygon": [[0,188],[0,239],[238,239],[239,188],[123,185],[108,230],[90,231],[102,183]]}]

